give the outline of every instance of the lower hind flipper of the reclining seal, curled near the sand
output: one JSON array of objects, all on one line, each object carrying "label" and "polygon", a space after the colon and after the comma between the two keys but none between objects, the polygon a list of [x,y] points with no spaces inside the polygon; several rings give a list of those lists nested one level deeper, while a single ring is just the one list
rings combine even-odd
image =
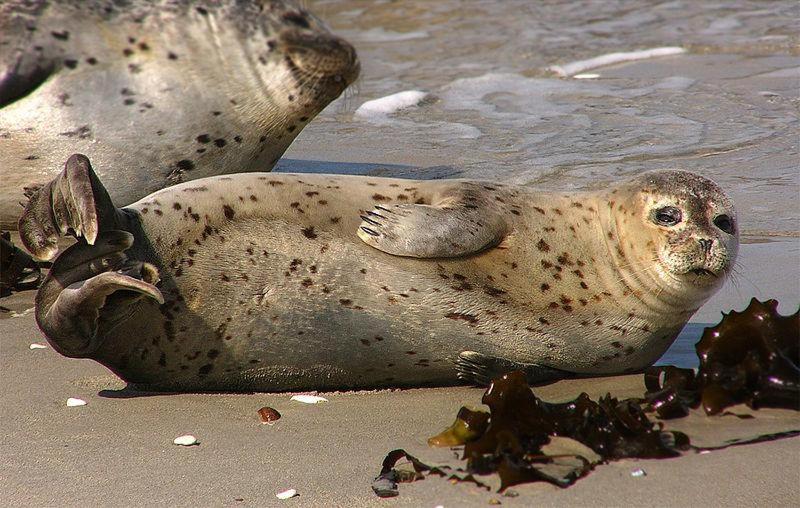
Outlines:
[{"label": "lower hind flipper of the reclining seal, curled near the sand", "polygon": [[164,303],[158,271],[148,263],[129,259],[124,251],[133,245],[125,231],[100,233],[95,245],[76,243],[53,263],[36,293],[36,322],[48,341],[63,355],[89,356],[102,338],[102,330],[115,326],[107,306],[132,306],[143,296]]}]

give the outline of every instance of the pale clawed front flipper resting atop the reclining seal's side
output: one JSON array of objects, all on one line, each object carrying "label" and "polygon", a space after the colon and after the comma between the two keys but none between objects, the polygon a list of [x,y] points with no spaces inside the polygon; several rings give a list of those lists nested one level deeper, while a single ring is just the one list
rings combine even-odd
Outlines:
[{"label": "pale clawed front flipper resting atop the reclining seal's side", "polygon": [[506,218],[479,186],[462,183],[431,205],[376,205],[361,216],[358,236],[395,256],[452,258],[499,244]]}]

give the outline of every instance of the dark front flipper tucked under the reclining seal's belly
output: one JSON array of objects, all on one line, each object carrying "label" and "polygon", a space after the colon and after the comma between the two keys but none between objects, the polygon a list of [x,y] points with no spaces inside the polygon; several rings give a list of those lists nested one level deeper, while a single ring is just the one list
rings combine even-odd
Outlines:
[{"label": "dark front flipper tucked under the reclining seal's belly", "polygon": [[488,386],[492,379],[513,370],[522,371],[531,386],[574,377],[574,374],[564,370],[535,363],[515,362],[475,351],[462,351],[459,353],[458,360],[456,360],[456,370],[458,379],[479,386]]}]

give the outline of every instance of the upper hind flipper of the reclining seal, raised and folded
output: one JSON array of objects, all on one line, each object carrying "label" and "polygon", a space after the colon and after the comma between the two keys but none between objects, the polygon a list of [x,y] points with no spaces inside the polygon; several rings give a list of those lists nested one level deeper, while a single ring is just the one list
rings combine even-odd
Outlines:
[{"label": "upper hind flipper of the reclining seal, raised and folded", "polygon": [[25,248],[46,261],[58,252],[59,236],[72,233],[91,245],[100,231],[126,229],[125,222],[89,159],[74,154],[61,174],[31,196],[19,219],[19,234]]}]

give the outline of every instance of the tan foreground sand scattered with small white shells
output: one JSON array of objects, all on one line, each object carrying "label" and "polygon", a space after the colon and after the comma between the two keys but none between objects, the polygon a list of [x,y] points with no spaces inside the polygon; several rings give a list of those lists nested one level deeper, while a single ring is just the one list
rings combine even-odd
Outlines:
[{"label": "tan foreground sand scattered with small white shells", "polygon": [[[766,281],[795,272],[785,264],[796,253],[797,240],[791,242],[788,250],[780,242],[758,244],[774,246],[771,255],[745,245],[746,264],[763,266],[749,253],[778,263],[748,276],[770,287]],[[783,280],[776,291],[796,298],[797,279]],[[738,297],[726,293],[720,301],[731,298]],[[516,498],[429,478],[401,485],[397,498],[379,499],[370,484],[390,450],[405,448],[429,463],[452,462],[453,452],[430,449],[426,439],[449,425],[461,405],[478,405],[482,390],[333,393],[324,394],[330,401],[319,405],[290,402],[289,394],[130,397],[119,379],[93,361],[64,358],[50,348],[29,349],[32,342],[45,342],[32,314],[25,314],[32,301],[30,291],[0,301],[23,314],[5,312],[0,319],[2,506],[433,507],[487,506],[493,498],[512,506],[800,505],[797,437],[677,459],[615,462],[565,490],[545,484],[515,487]],[[641,376],[626,376],[536,390],[546,400],[565,400],[581,391],[593,397],[607,391],[637,396],[643,385]],[[88,405],[67,407],[68,397]],[[262,425],[257,414],[262,406],[283,417],[274,426]],[[742,420],[693,414],[670,428],[687,432],[699,445],[800,429],[796,412],[755,415]],[[183,434],[197,436],[200,444],[173,445]],[[631,476],[636,468],[647,476]],[[299,496],[275,498],[288,488]]]}]

